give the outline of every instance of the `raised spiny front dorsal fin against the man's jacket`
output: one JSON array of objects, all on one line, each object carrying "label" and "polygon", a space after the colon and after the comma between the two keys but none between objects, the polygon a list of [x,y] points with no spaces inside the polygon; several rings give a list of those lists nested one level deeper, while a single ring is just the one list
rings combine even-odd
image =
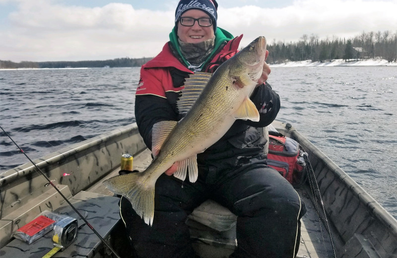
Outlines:
[{"label": "raised spiny front dorsal fin against the man's jacket", "polygon": [[190,110],[211,76],[212,73],[208,72],[196,72],[195,74],[189,75],[189,78],[185,81],[185,88],[182,90],[182,96],[177,101],[179,114],[185,114]]}]

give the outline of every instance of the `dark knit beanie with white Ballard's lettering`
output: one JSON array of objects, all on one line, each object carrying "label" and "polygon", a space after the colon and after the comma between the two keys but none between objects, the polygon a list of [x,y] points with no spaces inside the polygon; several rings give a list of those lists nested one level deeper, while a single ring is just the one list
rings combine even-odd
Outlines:
[{"label": "dark knit beanie with white Ballard's lettering", "polygon": [[216,31],[217,8],[218,3],[216,0],[180,0],[175,10],[175,27],[177,28],[177,23],[184,12],[190,9],[198,9],[209,15],[212,19],[214,31]]}]

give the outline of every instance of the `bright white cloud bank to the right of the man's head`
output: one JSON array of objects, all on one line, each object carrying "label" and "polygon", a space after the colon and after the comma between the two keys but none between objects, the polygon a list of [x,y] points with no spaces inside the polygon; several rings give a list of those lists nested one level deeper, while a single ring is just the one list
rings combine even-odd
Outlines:
[{"label": "bright white cloud bank to the right of the man's head", "polygon": [[395,10],[397,1],[300,0],[283,8],[220,7],[218,17],[222,17],[222,21],[218,24],[227,24],[233,33],[243,32],[243,44],[259,35],[265,36],[269,43],[273,39],[289,43],[299,41],[303,34],[351,38],[363,31],[395,33]]}]

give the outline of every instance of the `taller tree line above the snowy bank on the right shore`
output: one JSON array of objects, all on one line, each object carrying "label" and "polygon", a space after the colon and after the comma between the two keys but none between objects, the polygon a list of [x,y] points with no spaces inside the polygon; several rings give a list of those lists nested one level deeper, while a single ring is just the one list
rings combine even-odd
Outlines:
[{"label": "taller tree line above the snowy bank on the right shore", "polygon": [[319,39],[316,34],[304,34],[298,42],[276,42],[268,44],[267,63],[278,64],[288,61],[330,62],[335,59],[346,61],[363,59],[385,59],[397,62],[397,32],[362,32],[350,39]]}]

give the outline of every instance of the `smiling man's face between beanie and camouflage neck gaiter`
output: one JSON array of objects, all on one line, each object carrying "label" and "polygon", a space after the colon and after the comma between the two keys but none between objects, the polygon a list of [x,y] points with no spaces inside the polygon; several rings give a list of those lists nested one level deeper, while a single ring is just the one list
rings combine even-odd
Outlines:
[{"label": "smiling man's face between beanie and camouflage neck gaiter", "polygon": [[[191,9],[184,12],[181,16],[191,18],[209,18],[208,14],[198,9]],[[178,21],[178,38],[185,43],[200,43],[214,37],[213,25],[202,27],[198,21],[193,26],[184,26]]]}]

